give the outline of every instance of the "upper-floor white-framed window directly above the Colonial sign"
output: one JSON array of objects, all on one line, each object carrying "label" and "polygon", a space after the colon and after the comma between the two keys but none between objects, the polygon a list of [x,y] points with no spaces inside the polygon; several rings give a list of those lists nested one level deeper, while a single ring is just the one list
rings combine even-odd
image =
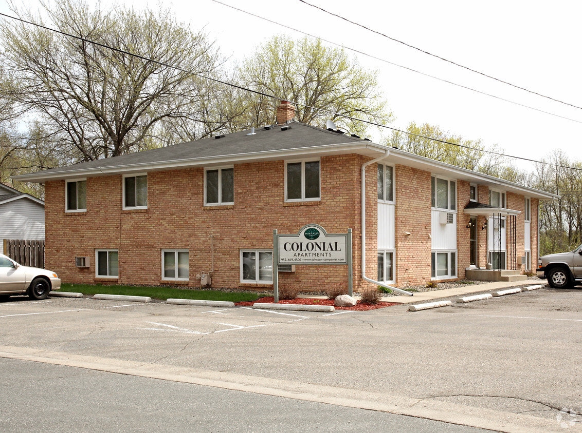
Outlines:
[{"label": "upper-floor white-framed window directly above the Colonial sign", "polygon": [[285,163],[285,201],[320,200],[320,161]]}]

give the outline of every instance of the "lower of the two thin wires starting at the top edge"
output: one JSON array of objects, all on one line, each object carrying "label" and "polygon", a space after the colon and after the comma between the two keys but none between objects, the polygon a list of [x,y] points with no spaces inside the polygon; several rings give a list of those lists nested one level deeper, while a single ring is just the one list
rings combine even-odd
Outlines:
[{"label": "lower of the two thin wires starting at the top edge", "polygon": [[576,123],[581,123],[582,124],[582,121],[580,121],[580,120],[576,120],[576,119],[573,119],[573,118],[570,118],[570,117],[566,117],[566,116],[561,116],[560,114],[551,113],[550,111],[545,111],[545,110],[537,109],[535,107],[532,107],[532,106],[529,106],[529,105],[526,105],[526,104],[522,104],[522,103],[519,103],[519,102],[512,101],[510,99],[502,98],[501,96],[493,95],[492,93],[483,92],[483,91],[480,91],[480,90],[471,88],[469,86],[464,86],[462,84],[458,84],[458,83],[453,82],[453,81],[445,80],[445,78],[439,78],[439,77],[436,77],[435,75],[427,74],[427,73],[418,71],[416,69],[413,69],[411,67],[403,66],[402,64],[394,63],[394,62],[391,62],[390,60],[382,59],[381,57],[377,57],[377,56],[371,55],[371,54],[366,53],[364,51],[361,51],[361,50],[358,50],[358,49],[355,49],[355,48],[350,48],[349,46],[345,46],[345,45],[342,45],[342,44],[338,44],[337,42],[330,41],[329,39],[320,38],[320,37],[315,36],[313,34],[306,33],[304,31],[301,31],[301,30],[299,30],[297,28],[290,27],[290,26],[287,26],[286,24],[279,23],[278,21],[274,21],[274,20],[271,20],[271,19],[262,17],[260,15],[256,15],[256,14],[254,14],[252,12],[248,12],[247,10],[244,10],[244,9],[236,8],[236,6],[228,5],[227,3],[223,3],[223,2],[221,2],[219,0],[211,0],[211,1],[212,2],[215,2],[215,3],[218,3],[219,5],[226,6],[227,8],[234,9],[234,10],[237,10],[237,11],[242,12],[242,13],[246,13],[247,15],[253,16],[255,18],[258,18],[258,19],[267,21],[268,23],[275,24],[276,26],[281,26],[281,27],[284,27],[284,28],[288,28],[289,30],[296,31],[297,33],[304,34],[304,35],[306,35],[306,36],[308,36],[310,38],[319,39],[320,41],[327,42],[328,44],[338,46],[339,48],[347,49],[347,50],[352,51],[354,53],[358,53],[358,54],[361,54],[363,56],[370,57],[370,59],[378,60],[379,62],[388,63],[388,64],[391,64],[392,66],[396,66],[396,67],[399,67],[399,68],[403,68],[403,69],[406,69],[407,71],[411,71],[411,72],[414,72],[416,74],[424,75],[424,77],[428,77],[428,78],[432,78],[434,80],[446,82],[446,83],[451,84],[453,86],[457,86],[457,87],[460,87],[462,89],[469,90],[471,92],[480,93],[481,95],[489,96],[490,98],[499,99],[499,100],[502,100],[504,102],[509,102],[510,104],[514,104],[514,105],[517,105],[517,106],[520,106],[520,107],[524,107],[524,108],[527,108],[527,109],[530,109],[530,110],[538,111],[540,113],[549,114],[550,116],[555,116],[555,117],[559,117],[559,118],[562,118],[562,119],[565,119],[565,120],[570,120],[572,122],[576,122]]}]

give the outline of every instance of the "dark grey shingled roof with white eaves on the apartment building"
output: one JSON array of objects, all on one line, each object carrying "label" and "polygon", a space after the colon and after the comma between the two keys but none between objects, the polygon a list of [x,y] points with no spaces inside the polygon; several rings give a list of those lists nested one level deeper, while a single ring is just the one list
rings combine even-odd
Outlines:
[{"label": "dark grey shingled roof with white eaves on the apartment building", "polygon": [[537,189],[517,185],[517,183],[503,181],[493,176],[441,163],[403,150],[378,145],[357,136],[312,127],[300,122],[293,121],[288,124],[255,128],[254,133],[247,130],[218,137],[218,139],[213,137],[196,140],[175,146],[69,165],[68,167],[51,168],[14,176],[13,179],[23,182],[46,182],[88,176],[355,153],[371,158],[385,156],[381,162],[403,164],[436,175],[500,187],[542,200],[556,197]]}]

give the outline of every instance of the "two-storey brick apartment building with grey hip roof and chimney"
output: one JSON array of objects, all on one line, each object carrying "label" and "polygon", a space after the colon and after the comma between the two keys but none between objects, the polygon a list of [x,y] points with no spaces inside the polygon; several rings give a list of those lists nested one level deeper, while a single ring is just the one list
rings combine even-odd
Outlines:
[{"label": "two-storey brick apartment building with grey hip roof and chimney", "polygon": [[[282,103],[271,127],[15,177],[45,185],[47,268],[71,283],[265,290],[273,230],[308,223],[353,230],[354,291],[537,260],[538,204],[552,194],[293,117]],[[302,290],[348,275],[279,271]]]}]

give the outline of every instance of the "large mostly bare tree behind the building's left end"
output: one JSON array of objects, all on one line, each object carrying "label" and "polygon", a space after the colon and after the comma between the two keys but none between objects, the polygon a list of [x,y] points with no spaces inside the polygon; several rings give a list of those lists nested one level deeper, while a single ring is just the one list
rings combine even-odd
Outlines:
[{"label": "large mostly bare tree behind the building's left end", "polygon": [[[204,104],[217,87],[217,49],[203,32],[169,10],[91,10],[84,0],[43,3],[49,22],[30,10],[1,27],[5,63],[22,80],[18,100],[41,116],[69,163],[117,156],[171,141],[156,136],[162,122],[205,124],[195,138],[220,127]],[[107,47],[115,48],[116,50]],[[141,57],[132,56],[137,54]],[[212,99],[210,96],[210,100]]]}]

